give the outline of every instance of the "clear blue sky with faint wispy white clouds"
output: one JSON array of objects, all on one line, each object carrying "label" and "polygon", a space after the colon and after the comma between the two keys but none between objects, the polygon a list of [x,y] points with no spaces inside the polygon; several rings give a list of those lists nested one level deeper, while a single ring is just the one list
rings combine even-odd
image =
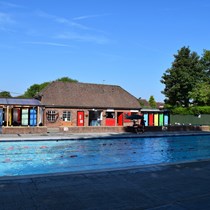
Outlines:
[{"label": "clear blue sky with faint wispy white clouds", "polygon": [[210,49],[209,0],[0,0],[0,91],[67,76],[163,101],[183,46]]}]

